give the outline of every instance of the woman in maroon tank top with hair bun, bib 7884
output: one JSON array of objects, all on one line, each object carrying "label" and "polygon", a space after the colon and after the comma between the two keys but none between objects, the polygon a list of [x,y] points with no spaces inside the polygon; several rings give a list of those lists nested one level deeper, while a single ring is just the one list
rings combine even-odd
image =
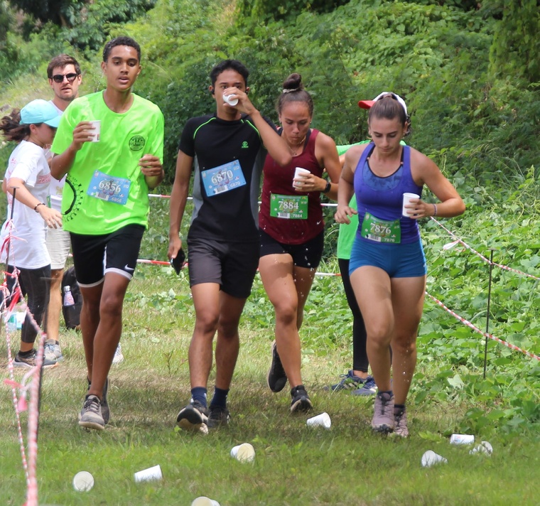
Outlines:
[{"label": "woman in maroon tank top with hair bun, bib 7884", "polygon": [[[337,198],[341,166],[333,139],[311,128],[313,100],[303,89],[301,75],[291,74],[284,82],[277,109],[280,133],[293,160],[281,167],[266,156],[259,212],[259,271],[276,313],[268,385],[280,392],[288,379],[291,412],[295,412],[313,407],[302,384],[298,330],[323,254],[320,193]],[[303,175],[295,177],[298,168]],[[324,171],[328,180],[323,178]]]}]

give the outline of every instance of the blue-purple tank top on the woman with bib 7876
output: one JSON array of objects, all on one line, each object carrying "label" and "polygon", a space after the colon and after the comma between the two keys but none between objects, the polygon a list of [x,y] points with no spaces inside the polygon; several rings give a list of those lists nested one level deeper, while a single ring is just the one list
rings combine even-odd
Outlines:
[{"label": "blue-purple tank top on the woman with bib 7876", "polygon": [[369,168],[369,156],[375,145],[369,143],[355,171],[355,195],[358,204],[357,237],[362,241],[370,241],[362,237],[362,222],[369,212],[379,220],[399,220],[401,227],[401,244],[411,244],[420,238],[418,220],[412,220],[401,215],[403,194],[416,193],[422,196],[422,187],[414,182],[411,176],[411,148],[403,146],[401,165],[390,176],[381,178]]}]

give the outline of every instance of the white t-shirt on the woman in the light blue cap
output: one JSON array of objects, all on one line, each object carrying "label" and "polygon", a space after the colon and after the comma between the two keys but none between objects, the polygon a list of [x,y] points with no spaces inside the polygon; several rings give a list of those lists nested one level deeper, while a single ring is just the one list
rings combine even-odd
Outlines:
[{"label": "white t-shirt on the woman in the light blue cap", "polygon": [[[9,165],[4,179],[19,178],[26,189],[40,202],[46,202],[49,194],[50,169],[43,148],[33,142],[21,141],[9,156]],[[13,196],[9,193],[7,220],[0,232],[1,244],[8,235],[7,222],[11,217]],[[13,212],[14,229],[9,252],[9,264],[23,269],[39,269],[50,264],[49,252],[45,244],[46,226],[43,218],[35,210],[16,200]],[[1,261],[6,262],[6,248],[1,253]]]}]

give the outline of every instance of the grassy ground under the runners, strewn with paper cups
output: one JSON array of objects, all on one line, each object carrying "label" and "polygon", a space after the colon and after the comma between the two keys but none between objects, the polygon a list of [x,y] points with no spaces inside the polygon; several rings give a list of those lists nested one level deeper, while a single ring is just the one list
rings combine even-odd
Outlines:
[{"label": "grassy ground under the runners, strewn with paper cups", "polygon": [[[480,401],[452,396],[445,400],[430,391],[427,402],[415,402],[426,378],[435,392],[433,385],[447,367],[445,357],[432,360],[421,343],[419,381],[409,396],[411,437],[406,440],[372,434],[371,398],[323,389],[350,367],[350,321],[341,290],[338,278],[316,279],[301,331],[303,377],[315,405],[313,414],[327,411],[331,429],[309,429],[306,415],[288,414],[288,389],[272,394],[266,387],[272,314],[257,277],[242,321],[242,346],[229,394],[231,424],[202,436],[175,428],[178,410],[189,399],[186,358],[193,305],[186,273],[178,278],[168,268],[141,266],[126,299],[121,341],[125,360],[110,373],[112,418],[106,430],[85,431],[77,426],[86,389],[80,335],[63,333],[65,360],[45,372],[38,454],[40,504],[173,506],[190,505],[200,495],[221,506],[537,504],[538,424],[519,431],[498,430],[497,419],[478,425],[477,441],[492,443],[491,457],[451,446],[450,434],[470,431],[470,409],[489,414],[500,401],[490,396]],[[317,317],[321,294],[335,304],[337,318],[343,315],[338,340],[328,339]],[[0,348],[5,351],[4,344]],[[6,377],[4,351],[0,367]],[[524,367],[535,371],[532,361]],[[481,371],[472,374],[480,377]],[[496,371],[490,369],[488,374]],[[443,384],[446,379],[439,381]],[[21,505],[26,483],[11,393],[5,385],[1,398],[0,503]],[[231,448],[243,442],[254,446],[254,463],[229,456]],[[445,456],[448,464],[421,467],[421,456],[428,449]],[[161,465],[163,480],[134,483],[136,471],[156,464]],[[90,492],[72,488],[72,478],[80,470],[90,471],[95,478]]]}]

